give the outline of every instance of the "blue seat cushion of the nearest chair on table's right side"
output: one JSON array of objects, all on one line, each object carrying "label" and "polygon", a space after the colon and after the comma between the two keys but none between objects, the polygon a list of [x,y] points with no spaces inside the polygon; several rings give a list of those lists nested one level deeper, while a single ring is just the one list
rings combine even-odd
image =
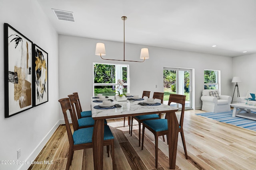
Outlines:
[{"label": "blue seat cushion of the nearest chair on table's right side", "polygon": [[[167,119],[154,119],[154,120],[145,120],[143,123],[153,129],[156,132],[160,131],[167,131],[168,125],[167,125]],[[180,128],[180,126],[179,126]]]}]

